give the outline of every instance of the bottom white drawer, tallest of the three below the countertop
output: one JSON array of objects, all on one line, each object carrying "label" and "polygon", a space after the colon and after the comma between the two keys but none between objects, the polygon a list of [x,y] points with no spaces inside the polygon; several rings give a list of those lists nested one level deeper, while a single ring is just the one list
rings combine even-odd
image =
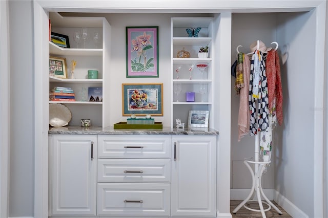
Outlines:
[{"label": "bottom white drawer, tallest of the three below the countertop", "polygon": [[98,183],[98,215],[170,215],[170,184]]}]

